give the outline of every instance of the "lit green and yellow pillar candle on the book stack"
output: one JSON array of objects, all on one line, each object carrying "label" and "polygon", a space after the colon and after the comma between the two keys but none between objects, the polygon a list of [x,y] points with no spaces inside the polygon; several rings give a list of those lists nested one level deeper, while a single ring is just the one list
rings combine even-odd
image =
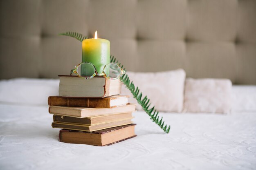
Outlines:
[{"label": "lit green and yellow pillar candle on the book stack", "polygon": [[110,62],[110,42],[98,38],[97,31],[95,31],[94,38],[85,39],[82,42],[82,62],[94,64],[99,74],[102,73],[104,66]]}]

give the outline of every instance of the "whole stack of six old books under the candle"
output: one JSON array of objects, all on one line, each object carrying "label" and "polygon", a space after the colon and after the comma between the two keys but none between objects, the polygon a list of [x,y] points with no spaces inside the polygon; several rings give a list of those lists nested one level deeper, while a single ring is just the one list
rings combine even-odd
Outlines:
[{"label": "whole stack of six old books under the candle", "polygon": [[108,146],[135,137],[135,104],[121,96],[119,79],[59,75],[59,95],[49,96],[53,128],[59,140],[73,144]]}]

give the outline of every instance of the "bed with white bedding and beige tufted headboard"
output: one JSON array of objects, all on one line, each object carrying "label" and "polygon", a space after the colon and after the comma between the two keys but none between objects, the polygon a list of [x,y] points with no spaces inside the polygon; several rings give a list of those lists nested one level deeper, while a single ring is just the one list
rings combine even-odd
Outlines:
[{"label": "bed with white bedding and beige tufted headboard", "polygon": [[[256,169],[255,16],[255,0],[0,1],[0,170]],[[127,71],[182,68],[186,77],[240,84],[232,112],[160,113],[171,125],[165,134],[137,111],[135,138],[59,142],[47,97],[82,51],[58,33],[92,38],[95,30]]]}]

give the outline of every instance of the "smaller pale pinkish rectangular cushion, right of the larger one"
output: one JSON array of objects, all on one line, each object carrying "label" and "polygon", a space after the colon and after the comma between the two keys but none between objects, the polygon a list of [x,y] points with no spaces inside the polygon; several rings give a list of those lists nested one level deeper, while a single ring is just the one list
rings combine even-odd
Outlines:
[{"label": "smaller pale pinkish rectangular cushion, right of the larger one", "polygon": [[184,112],[229,113],[231,88],[229,79],[186,79]]}]

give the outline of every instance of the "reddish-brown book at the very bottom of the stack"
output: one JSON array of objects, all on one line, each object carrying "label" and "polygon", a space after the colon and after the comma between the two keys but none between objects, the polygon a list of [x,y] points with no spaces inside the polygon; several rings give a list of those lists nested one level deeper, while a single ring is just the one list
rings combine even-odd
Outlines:
[{"label": "reddish-brown book at the very bottom of the stack", "polygon": [[76,130],[60,130],[59,140],[70,144],[87,144],[93,146],[109,146],[132,137],[136,137],[135,124],[118,126],[94,132]]}]

